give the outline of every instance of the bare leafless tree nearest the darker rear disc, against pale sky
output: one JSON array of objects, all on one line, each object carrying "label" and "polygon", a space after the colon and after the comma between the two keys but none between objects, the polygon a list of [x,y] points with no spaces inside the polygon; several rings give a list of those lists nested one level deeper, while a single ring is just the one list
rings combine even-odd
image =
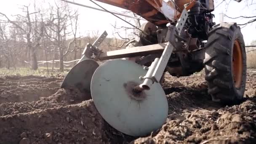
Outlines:
[{"label": "bare leafless tree nearest the darker rear disc, against pale sky", "polygon": [[[67,4],[55,3],[54,7],[51,7],[50,19],[48,19],[49,30],[45,30],[45,34],[54,44],[53,64],[56,52],[59,52],[59,69],[61,72],[64,71],[64,57],[76,50],[77,21],[78,12],[72,11]],[[66,46],[67,37],[70,35],[73,35],[73,40]],[[74,47],[72,47],[73,43],[75,43]]]}]

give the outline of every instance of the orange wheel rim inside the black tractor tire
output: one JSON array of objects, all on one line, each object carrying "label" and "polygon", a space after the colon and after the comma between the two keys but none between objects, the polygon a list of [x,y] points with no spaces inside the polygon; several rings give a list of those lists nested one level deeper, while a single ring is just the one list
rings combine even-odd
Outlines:
[{"label": "orange wheel rim inside the black tractor tire", "polygon": [[243,55],[239,40],[235,40],[233,46],[233,79],[236,88],[240,88],[243,73]]}]

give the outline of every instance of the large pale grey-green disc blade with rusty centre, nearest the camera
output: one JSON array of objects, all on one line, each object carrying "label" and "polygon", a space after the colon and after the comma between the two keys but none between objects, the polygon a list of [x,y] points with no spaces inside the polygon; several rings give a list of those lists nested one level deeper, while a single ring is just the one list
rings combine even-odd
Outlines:
[{"label": "large pale grey-green disc blade with rusty centre, nearest the camera", "polygon": [[135,93],[146,74],[133,61],[116,59],[99,66],[91,81],[93,102],[113,128],[131,136],[144,136],[161,128],[168,115],[168,103],[159,83],[149,91]]}]

